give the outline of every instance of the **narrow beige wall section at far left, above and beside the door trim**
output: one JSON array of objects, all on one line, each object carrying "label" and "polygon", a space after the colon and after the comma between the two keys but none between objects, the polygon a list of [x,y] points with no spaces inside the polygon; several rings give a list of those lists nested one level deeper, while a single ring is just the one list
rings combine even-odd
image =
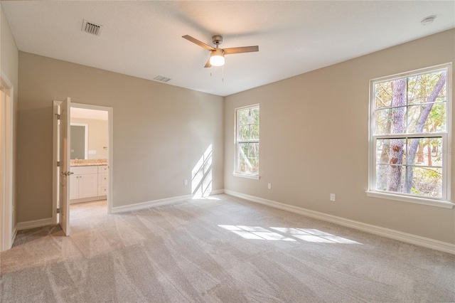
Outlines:
[{"label": "narrow beige wall section at far left, above and beside the door trim", "polygon": [[[6,20],[6,16],[3,11],[3,7],[0,6],[0,70],[1,73],[4,73],[6,78],[11,81],[13,85],[13,94],[14,94],[14,129],[13,129],[13,141],[14,141],[14,150],[16,150],[16,109],[18,104],[18,48],[16,46],[16,41],[14,41],[13,34],[11,33],[11,28],[9,23]],[[13,203],[14,209],[17,209],[17,200],[16,200],[16,157],[13,155]],[[16,211],[13,214],[13,227],[16,226]]]}]

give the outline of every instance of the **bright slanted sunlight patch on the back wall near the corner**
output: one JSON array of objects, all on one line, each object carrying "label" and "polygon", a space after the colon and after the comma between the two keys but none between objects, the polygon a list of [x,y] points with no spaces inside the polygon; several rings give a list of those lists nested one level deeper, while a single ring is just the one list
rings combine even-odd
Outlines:
[{"label": "bright slanted sunlight patch on the back wall near the corner", "polygon": [[193,199],[208,197],[212,192],[212,144],[200,157],[191,171],[191,193]]}]

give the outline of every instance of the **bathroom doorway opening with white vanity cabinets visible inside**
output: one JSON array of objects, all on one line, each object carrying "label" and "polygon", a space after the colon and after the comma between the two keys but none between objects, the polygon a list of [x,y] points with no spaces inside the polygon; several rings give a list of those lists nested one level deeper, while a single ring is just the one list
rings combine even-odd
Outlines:
[{"label": "bathroom doorway opening with white vanity cabinets visible inside", "polygon": [[70,125],[71,225],[81,209],[112,213],[112,107],[71,103]]}]

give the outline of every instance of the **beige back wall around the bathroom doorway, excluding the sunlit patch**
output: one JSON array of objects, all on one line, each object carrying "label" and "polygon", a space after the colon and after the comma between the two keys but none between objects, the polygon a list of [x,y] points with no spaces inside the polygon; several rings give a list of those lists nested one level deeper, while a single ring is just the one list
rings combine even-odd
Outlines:
[{"label": "beige back wall around the bathroom doorway, excluding the sunlit patch", "polygon": [[113,108],[113,207],[191,193],[213,146],[223,188],[223,97],[19,52],[18,221],[52,216],[53,100]]}]

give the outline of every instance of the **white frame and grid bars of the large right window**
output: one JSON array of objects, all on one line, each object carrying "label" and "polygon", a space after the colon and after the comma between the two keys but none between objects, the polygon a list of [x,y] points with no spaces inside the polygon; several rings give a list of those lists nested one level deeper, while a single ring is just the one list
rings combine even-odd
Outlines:
[{"label": "white frame and grid bars of the large right window", "polygon": [[[438,73],[441,71],[442,73],[446,73],[446,95],[445,95],[445,100],[442,100],[444,98],[440,98],[441,100],[433,101],[431,103],[425,103],[428,102],[428,100],[425,100],[424,102],[415,102],[411,103],[410,102],[410,79],[411,78],[417,78],[419,75],[430,75],[432,73]],[[418,204],[424,204],[428,206],[438,206],[442,208],[453,208],[455,206],[454,203],[451,202],[451,154],[452,154],[452,149],[451,149],[451,110],[452,110],[452,105],[451,105],[451,100],[452,100],[452,64],[451,63],[446,63],[443,65],[437,65],[437,66],[432,66],[430,68],[422,68],[420,70],[412,70],[407,73],[401,73],[399,75],[391,75],[388,77],[384,78],[377,78],[370,80],[370,127],[369,127],[369,156],[368,156],[368,191],[367,196],[375,197],[375,198],[385,198],[385,199],[391,199],[395,201],[404,201],[404,202],[410,202],[410,203],[418,203]],[[405,92],[405,98],[406,98],[406,103],[405,105],[399,105],[395,107],[393,103],[391,102],[390,105],[380,105],[378,107],[378,100],[377,99],[377,91],[375,90],[375,85],[380,85],[381,83],[391,83],[392,81],[395,80],[406,80],[406,92]],[[393,87],[393,86],[392,86]],[[414,89],[414,88],[413,88]],[[429,94],[428,94],[429,95]],[[439,96],[439,95],[438,95]],[[390,96],[392,98],[392,96]],[[439,97],[438,97],[439,98]],[[394,99],[396,100],[396,99]],[[382,102],[382,101],[380,101]],[[410,125],[414,123],[411,119],[411,114],[410,112],[412,111],[412,107],[416,107],[416,105],[420,105],[420,107],[423,107],[424,105],[427,104],[432,104],[432,108],[434,109],[434,105],[437,103],[440,103],[441,105],[445,105],[445,127],[443,129],[432,129],[431,131],[429,129],[424,129],[420,132],[415,132],[413,129],[410,128]],[[385,102],[387,103],[387,102]],[[382,103],[381,103],[382,104]],[[377,117],[382,117],[379,112],[380,110],[389,110],[390,112],[394,111],[400,111],[405,112],[405,129],[403,132],[392,132],[390,131],[389,127],[389,132],[387,132],[387,127],[385,127],[385,122],[378,122],[376,119],[380,119]],[[387,116],[387,119],[383,119],[382,121],[387,121],[387,120],[392,120],[395,119],[395,117],[392,117],[392,114],[389,114],[390,116]],[[395,114],[394,114],[395,115]],[[419,114],[420,115],[420,114]],[[385,117],[385,116],[384,116]],[[420,116],[419,116],[420,117]],[[415,119],[415,118],[413,118]],[[394,123],[394,122],[392,122]],[[417,123],[417,122],[416,122]],[[427,123],[427,122],[425,122]],[[390,122],[389,122],[390,124]],[[422,124],[421,124],[422,125]],[[429,127],[428,127],[429,128]],[[384,131],[386,129],[386,131]],[[417,127],[415,127],[417,129]],[[439,156],[439,163],[437,165],[433,164],[415,164],[414,162],[408,163],[410,160],[407,160],[407,149],[409,148],[410,142],[414,139],[427,139],[427,140],[434,140],[440,142],[438,143],[438,148],[442,151],[441,155]],[[402,144],[402,164],[401,162],[398,162],[397,165],[395,165],[395,158],[387,158],[390,160],[390,162],[381,162],[382,161],[382,155],[384,154],[387,149],[392,147],[392,143],[390,143],[390,146],[385,149],[385,147],[382,147],[382,154],[379,156],[378,152],[380,151],[381,144],[385,142],[386,140],[390,139],[390,142],[395,139],[401,140],[401,142],[405,142],[405,144]],[[410,149],[410,148],[409,148]],[[392,149],[390,149],[390,153],[392,154]],[[415,159],[415,153],[413,154],[414,157],[410,157],[410,159]],[[431,158],[432,153],[428,152],[427,157]],[[398,157],[401,159],[400,157]],[[436,159],[436,157],[435,157]],[[408,161],[408,162],[407,162]],[[428,160],[429,162],[429,160]],[[402,183],[407,182],[407,180],[414,180],[414,179],[408,179],[408,170],[409,169],[433,169],[441,171],[441,192],[438,193],[435,196],[431,196],[432,192],[428,194],[422,194],[422,192],[414,192],[414,188],[412,188],[413,191],[410,191],[411,186],[406,185],[406,192],[394,192],[390,190],[390,187],[387,186],[384,188],[382,186],[382,179],[386,178],[388,181],[392,180],[390,179],[390,176],[387,175],[385,176],[384,174],[381,174],[380,172],[378,173],[377,169],[378,167],[382,167],[381,165],[384,165],[383,167],[388,167],[388,166],[397,166],[400,169],[402,168],[405,176],[403,176]],[[432,166],[433,165],[433,166]],[[384,177],[385,176],[385,177]],[[412,176],[412,174],[411,174]],[[415,176],[415,175],[414,175]],[[377,180],[378,178],[378,180]],[[381,179],[382,178],[382,179]],[[388,182],[387,181],[387,182]],[[410,181],[411,182],[411,181]],[[380,184],[380,185],[378,185]],[[408,183],[409,184],[409,183]]]}]

